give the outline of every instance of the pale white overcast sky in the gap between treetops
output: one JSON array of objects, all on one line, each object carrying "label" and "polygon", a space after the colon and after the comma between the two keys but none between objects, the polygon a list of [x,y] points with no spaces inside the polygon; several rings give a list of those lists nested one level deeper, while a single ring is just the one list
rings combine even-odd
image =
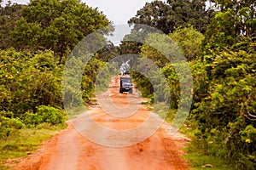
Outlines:
[{"label": "pale white overcast sky in the gap between treetops", "polygon": [[[126,24],[131,17],[137,14],[137,10],[143,8],[145,3],[154,0],[82,0],[90,7],[98,7],[99,11],[107,15],[108,20],[113,21],[113,25]],[[166,0],[163,0],[166,2]],[[3,0],[3,3],[8,0]],[[29,3],[29,0],[12,0],[13,3]]]}]

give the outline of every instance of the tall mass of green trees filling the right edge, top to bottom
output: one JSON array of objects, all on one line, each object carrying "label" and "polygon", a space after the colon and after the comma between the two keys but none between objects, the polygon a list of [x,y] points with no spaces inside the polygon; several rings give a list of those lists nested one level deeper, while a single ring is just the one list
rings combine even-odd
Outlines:
[{"label": "tall mass of green trees filling the right edge, top to bottom", "polygon": [[240,169],[253,169],[255,5],[251,1],[216,2],[220,11],[207,28],[203,43],[206,55],[201,58],[207,79],[199,77],[195,88],[192,113],[198,123],[197,139],[205,154],[226,157]]}]

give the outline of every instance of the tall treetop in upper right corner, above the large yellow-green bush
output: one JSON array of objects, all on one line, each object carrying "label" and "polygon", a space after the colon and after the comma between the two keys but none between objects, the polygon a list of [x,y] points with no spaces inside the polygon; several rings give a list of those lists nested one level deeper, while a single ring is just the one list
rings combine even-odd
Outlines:
[{"label": "tall treetop in upper right corner, above the large yellow-green bush", "polygon": [[256,36],[255,3],[250,2],[225,1],[225,3],[220,3],[223,8],[214,14],[203,42],[206,54],[222,51],[236,42],[243,42],[245,38]]}]

